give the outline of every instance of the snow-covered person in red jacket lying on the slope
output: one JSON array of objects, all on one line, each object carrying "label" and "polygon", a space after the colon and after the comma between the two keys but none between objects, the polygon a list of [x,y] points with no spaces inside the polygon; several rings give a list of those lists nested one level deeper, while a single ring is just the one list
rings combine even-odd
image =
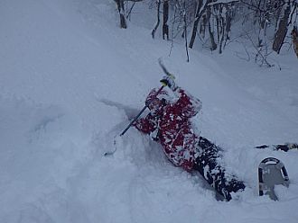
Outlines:
[{"label": "snow-covered person in red jacket lying on the slope", "polygon": [[244,190],[245,184],[219,165],[221,148],[200,137],[191,127],[191,118],[200,112],[200,100],[176,86],[171,76],[165,76],[161,82],[170,87],[176,99],[164,89],[156,95],[158,89],[154,88],[145,100],[150,113],[136,120],[135,128],[160,142],[173,165],[188,172],[198,171],[216,192],[230,201],[231,192]]}]

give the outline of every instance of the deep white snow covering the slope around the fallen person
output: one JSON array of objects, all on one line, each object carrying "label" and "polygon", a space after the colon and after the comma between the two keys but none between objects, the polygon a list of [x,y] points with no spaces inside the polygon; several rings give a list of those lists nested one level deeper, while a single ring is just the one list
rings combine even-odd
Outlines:
[{"label": "deep white snow covering the slope around the fallen person", "polygon": [[[120,30],[117,19],[112,0],[0,2],[0,222],[297,222],[298,151],[254,148],[298,141],[291,51],[276,57],[282,70],[233,50],[191,50],[187,63],[183,46],[169,57],[171,42],[152,40],[147,20]],[[159,86],[158,58],[202,101],[198,129],[247,184],[237,199],[217,201],[135,129],[103,156]],[[267,156],[290,176],[276,188],[280,201],[257,195]]]}]

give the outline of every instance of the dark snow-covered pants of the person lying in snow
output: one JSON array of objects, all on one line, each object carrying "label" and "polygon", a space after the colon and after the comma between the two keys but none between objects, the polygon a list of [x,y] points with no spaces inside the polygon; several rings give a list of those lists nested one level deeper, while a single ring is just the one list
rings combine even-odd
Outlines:
[{"label": "dark snow-covered pants of the person lying in snow", "polygon": [[226,170],[217,163],[220,158],[220,147],[211,143],[207,138],[200,137],[198,143],[199,156],[196,159],[194,170],[200,172],[205,180],[219,192],[227,201],[232,199],[230,193],[244,190],[243,182],[237,177],[226,173]]}]

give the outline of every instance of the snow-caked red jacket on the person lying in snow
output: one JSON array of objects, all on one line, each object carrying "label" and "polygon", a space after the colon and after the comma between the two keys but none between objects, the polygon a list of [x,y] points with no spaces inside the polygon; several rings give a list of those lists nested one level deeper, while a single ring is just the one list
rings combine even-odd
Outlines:
[{"label": "snow-caked red jacket on the person lying in snow", "polygon": [[172,164],[190,171],[196,158],[199,138],[191,128],[191,117],[200,112],[201,103],[182,88],[178,88],[174,94],[177,100],[161,107],[158,114],[149,113],[136,120],[134,125],[146,134],[158,132],[157,138]]}]

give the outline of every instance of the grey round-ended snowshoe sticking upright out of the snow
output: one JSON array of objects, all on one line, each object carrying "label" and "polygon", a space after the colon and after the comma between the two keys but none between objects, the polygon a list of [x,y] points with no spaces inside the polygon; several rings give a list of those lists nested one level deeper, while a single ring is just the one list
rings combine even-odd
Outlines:
[{"label": "grey round-ended snowshoe sticking upright out of the snow", "polygon": [[289,186],[289,176],[284,164],[275,157],[267,157],[258,166],[259,195],[269,195],[269,198],[278,201],[275,195],[275,185]]}]

